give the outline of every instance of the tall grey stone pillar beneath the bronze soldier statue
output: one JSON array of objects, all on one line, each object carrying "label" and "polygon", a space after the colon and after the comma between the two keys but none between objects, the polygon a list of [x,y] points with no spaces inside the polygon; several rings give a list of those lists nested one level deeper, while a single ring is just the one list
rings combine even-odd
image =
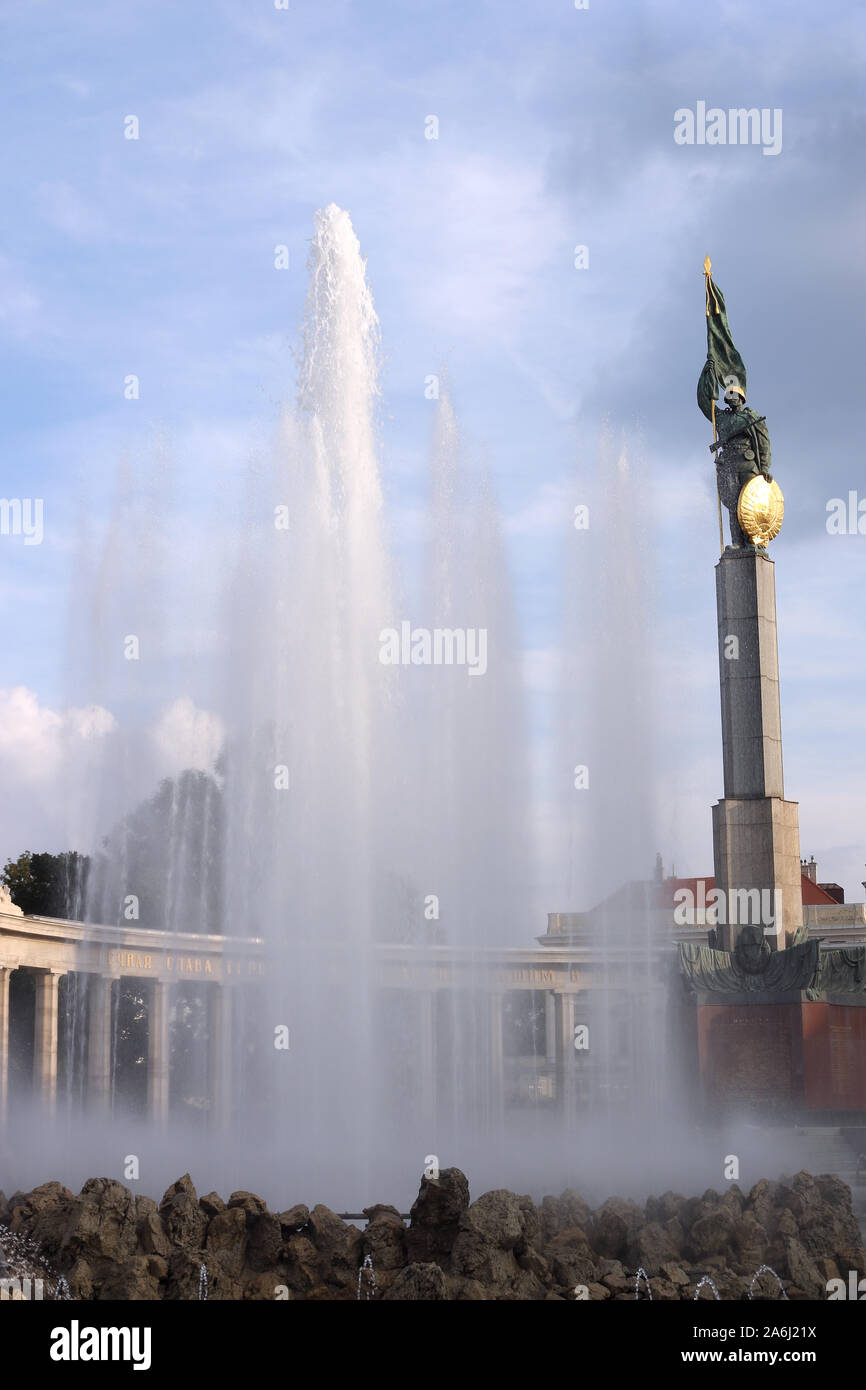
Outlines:
[{"label": "tall grey stone pillar beneath the bronze soldier statue", "polygon": [[784,799],[773,560],[726,550],[716,607],[724,798],[713,806],[713,862],[727,909],[717,941],[731,951],[753,926],[781,949],[802,923],[802,888],[798,806]]}]

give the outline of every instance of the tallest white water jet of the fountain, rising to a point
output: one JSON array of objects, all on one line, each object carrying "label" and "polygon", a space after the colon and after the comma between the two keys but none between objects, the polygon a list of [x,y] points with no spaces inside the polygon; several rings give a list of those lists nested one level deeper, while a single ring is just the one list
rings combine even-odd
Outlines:
[{"label": "tallest white water jet of the fountain, rising to a point", "polygon": [[378,660],[391,623],[378,321],[335,206],[316,217],[309,270],[299,410],[245,538],[228,676],[227,923],[261,935],[268,960],[234,1052],[254,1055],[259,1090],[245,1063],[234,1094],[274,1161],[299,1179],[339,1173],[354,1201],[379,1101],[370,947],[395,815],[393,681]]}]

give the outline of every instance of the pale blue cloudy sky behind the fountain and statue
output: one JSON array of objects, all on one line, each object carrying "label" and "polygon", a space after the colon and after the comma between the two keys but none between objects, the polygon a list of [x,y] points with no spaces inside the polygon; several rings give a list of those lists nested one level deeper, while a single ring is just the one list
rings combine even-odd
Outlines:
[{"label": "pale blue cloudy sky behind the fountain and statue", "polygon": [[[803,856],[862,899],[866,517],[863,535],[827,530],[833,499],[866,499],[859,8],[6,0],[0,28],[0,493],[44,506],[40,545],[0,535],[3,859],[67,847],[64,767],[122,716],[68,645],[124,475],[147,474],[149,543],[189,546],[195,594],[202,530],[214,548],[231,531],[240,466],[292,399],[313,215],[336,202],[382,327],[395,548],[414,543],[425,384],[445,370],[503,518],[539,764],[574,506],[599,485],[603,432],[626,443],[635,514],[607,549],[616,573],[641,535],[657,848],[688,874],[712,873],[721,795],[695,403],[712,256],[785,493],[785,790]],[[780,113],[781,147],[677,143],[676,113],[698,103]],[[133,530],[128,555],[140,545]],[[193,653],[215,642],[189,634]],[[213,727],[178,684],[154,714],[154,770],[177,770],[190,738],[210,748]]]}]

